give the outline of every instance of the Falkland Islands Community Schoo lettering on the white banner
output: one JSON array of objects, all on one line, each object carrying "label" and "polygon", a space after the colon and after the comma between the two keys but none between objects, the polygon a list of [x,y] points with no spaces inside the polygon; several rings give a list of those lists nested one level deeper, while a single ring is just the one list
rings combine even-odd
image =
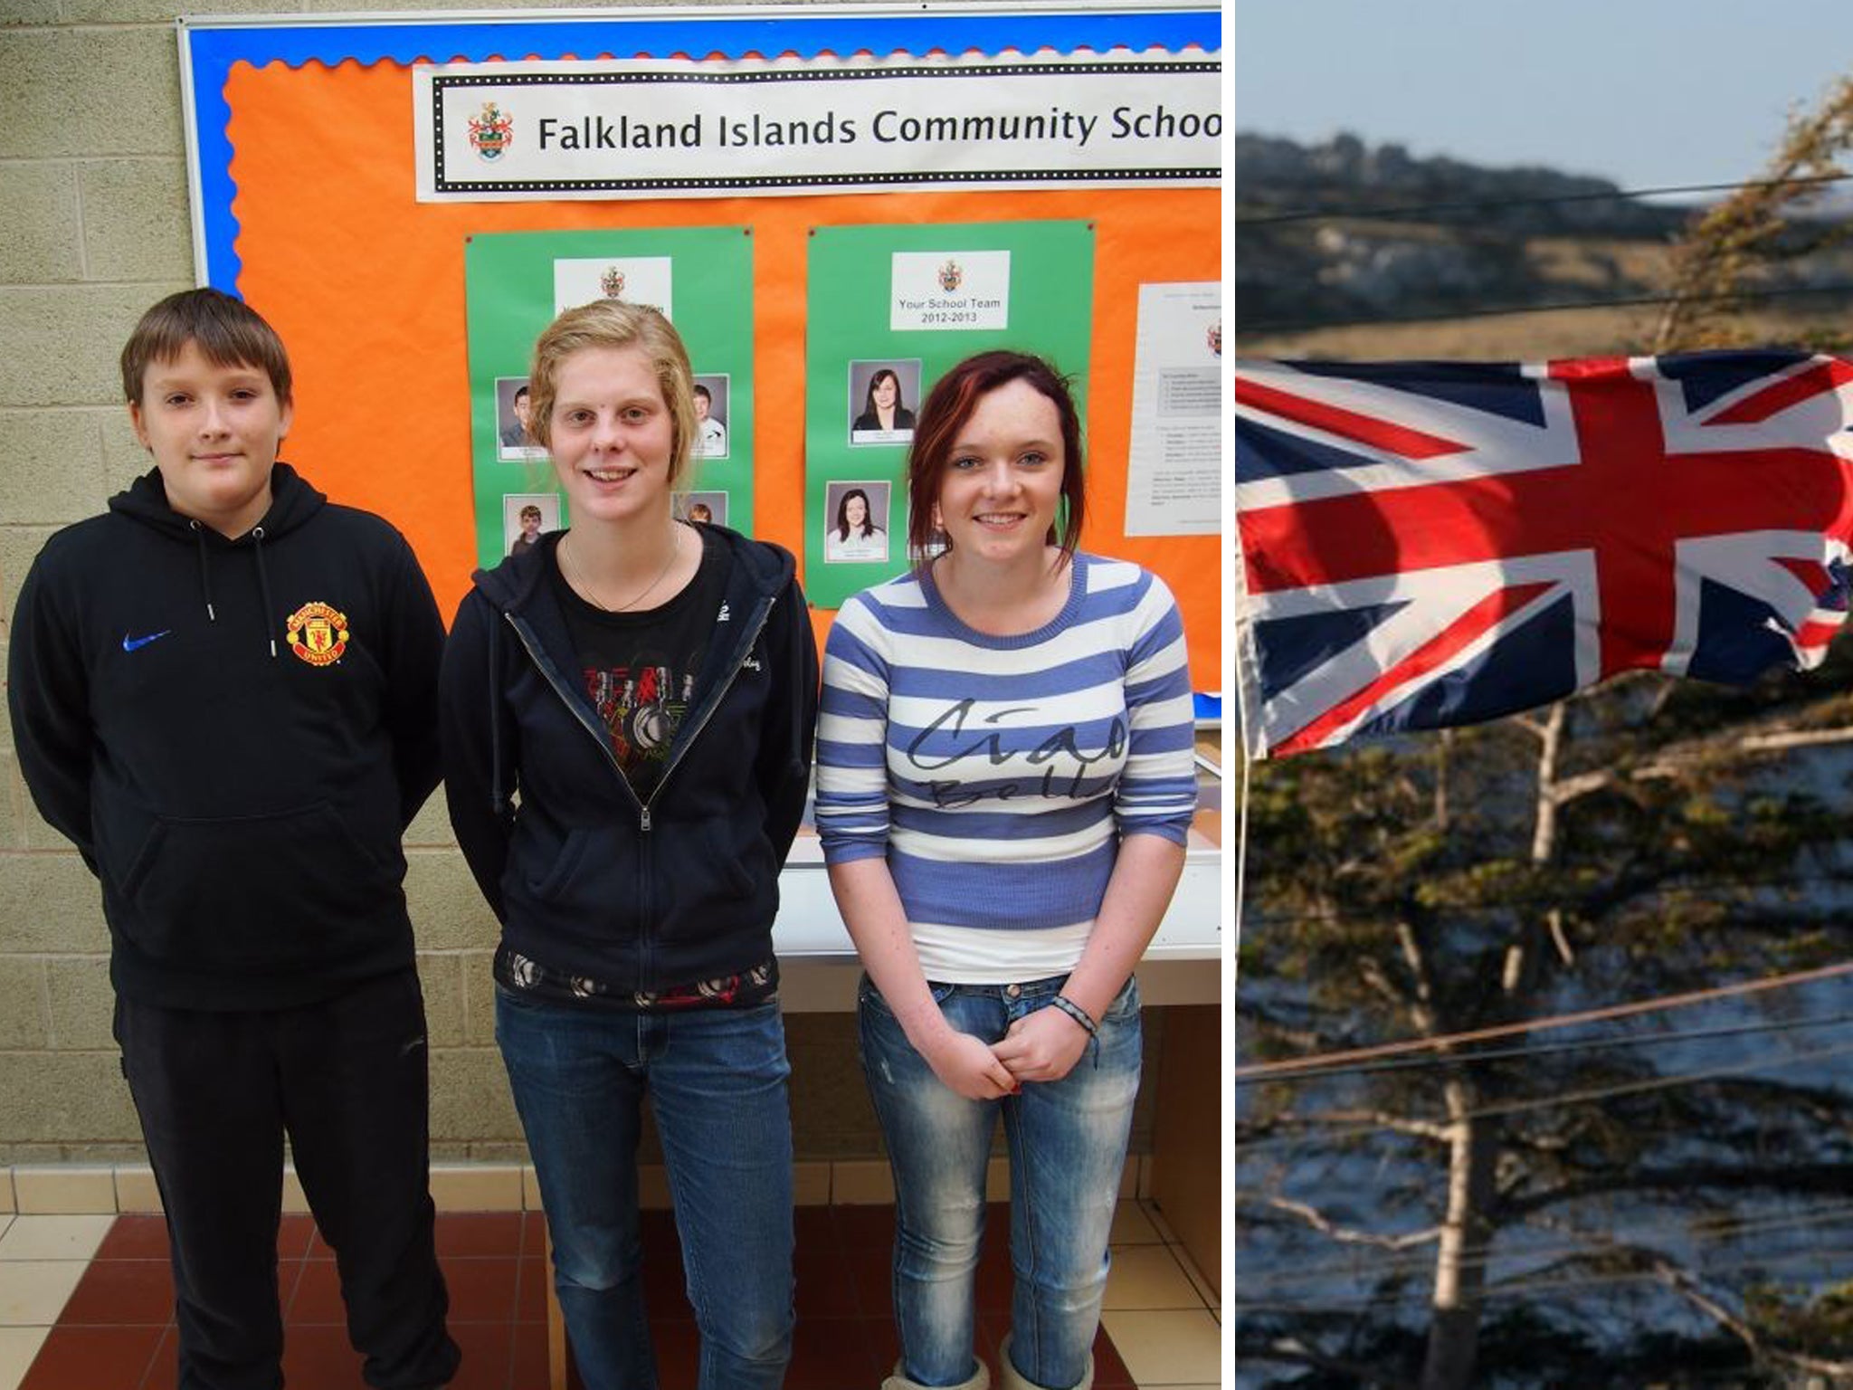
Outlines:
[{"label": "Falkland Islands Community Schoo lettering on the white banner", "polygon": [[[1166,106],[1138,109],[1114,107],[1103,126],[1101,115],[1049,111],[1045,115],[947,115],[919,117],[902,111],[876,111],[867,122],[867,137],[878,145],[923,145],[943,141],[1069,141],[1086,146],[1104,139],[1219,139],[1223,117],[1217,111],[1171,111]],[[826,111],[812,120],[775,120],[763,115],[713,117],[687,120],[632,120],[628,115],[541,117],[537,143],[543,150],[699,150],[708,133],[713,148],[752,148],[788,145],[854,145],[863,128],[852,117]]]}]

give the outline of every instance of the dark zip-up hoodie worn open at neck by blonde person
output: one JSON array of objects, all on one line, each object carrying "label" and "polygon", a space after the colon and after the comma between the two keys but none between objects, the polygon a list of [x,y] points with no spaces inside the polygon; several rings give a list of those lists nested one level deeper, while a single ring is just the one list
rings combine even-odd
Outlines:
[{"label": "dark zip-up hoodie worn open at neck by blonde person", "polygon": [[547,578],[560,534],[478,571],[445,649],[445,795],[502,940],[621,992],[769,960],[778,869],[804,815],[817,647],[793,560],[708,532],[732,552],[725,617],[647,804]]}]

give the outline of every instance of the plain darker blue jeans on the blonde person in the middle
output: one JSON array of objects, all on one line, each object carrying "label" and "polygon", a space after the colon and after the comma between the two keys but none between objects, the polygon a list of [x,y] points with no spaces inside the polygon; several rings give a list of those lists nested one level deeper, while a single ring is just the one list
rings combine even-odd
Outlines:
[{"label": "plain darker blue jeans on the blonde person in the middle", "polygon": [[497,990],[495,1038],[528,1136],[554,1286],[587,1390],[652,1390],[637,1134],[669,1168],[700,1390],[775,1390],[791,1358],[791,1110],[778,1005],[608,1012]]}]

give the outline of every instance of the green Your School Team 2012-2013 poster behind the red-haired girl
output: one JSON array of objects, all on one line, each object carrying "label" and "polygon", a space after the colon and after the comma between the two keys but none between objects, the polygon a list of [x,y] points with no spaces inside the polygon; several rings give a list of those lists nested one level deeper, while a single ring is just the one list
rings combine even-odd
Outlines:
[{"label": "green Your School Team 2012-2013 poster behind the red-haired girl", "polygon": [[1091,222],[819,226],[810,243],[804,591],[841,602],[908,565],[914,411],[986,348],[1049,358],[1086,417]]}]

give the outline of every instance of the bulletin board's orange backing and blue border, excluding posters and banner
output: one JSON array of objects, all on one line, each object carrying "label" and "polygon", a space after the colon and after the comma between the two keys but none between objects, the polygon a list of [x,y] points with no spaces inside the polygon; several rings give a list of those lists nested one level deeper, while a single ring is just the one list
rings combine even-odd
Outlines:
[{"label": "bulletin board's orange backing and blue border, excluding posters and banner", "polygon": [[[1125,536],[1140,285],[1214,282],[1217,187],[458,202],[415,196],[413,63],[569,57],[1036,54],[1214,57],[1214,7],[700,9],[519,17],[185,19],[182,72],[200,284],[284,335],[296,417],[284,456],[411,539],[448,613],[478,563],[465,254],[491,234],[750,228],[752,534],[806,552],[810,243],[821,228],[1080,222],[1093,243],[1082,545],[1156,571],[1184,610],[1191,684],[1221,669],[1216,536]],[[737,519],[736,519],[737,521]],[[819,636],[832,613],[817,606]]]}]

